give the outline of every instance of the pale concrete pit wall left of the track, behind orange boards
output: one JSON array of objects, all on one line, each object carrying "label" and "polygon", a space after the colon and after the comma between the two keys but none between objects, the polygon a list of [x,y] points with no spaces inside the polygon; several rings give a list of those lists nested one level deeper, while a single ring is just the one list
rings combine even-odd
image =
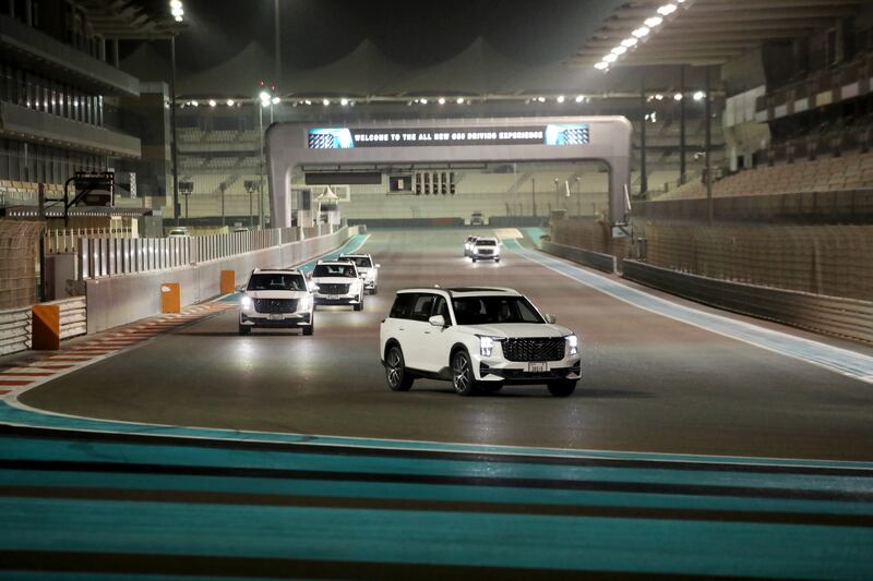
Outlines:
[{"label": "pale concrete pit wall left of the track, behind orange boards", "polygon": [[239,286],[254,268],[286,268],[311,261],[363,231],[366,227],[344,227],[330,234],[292,242],[283,242],[284,237],[274,235],[274,244],[259,250],[240,249],[236,254],[200,261],[192,252],[188,259],[193,262],[182,266],[85,278],[81,283],[87,295],[87,331],[98,332],[159,314],[163,285],[179,285],[182,306],[199,303],[220,294],[222,270],[234,270],[235,286]]}]

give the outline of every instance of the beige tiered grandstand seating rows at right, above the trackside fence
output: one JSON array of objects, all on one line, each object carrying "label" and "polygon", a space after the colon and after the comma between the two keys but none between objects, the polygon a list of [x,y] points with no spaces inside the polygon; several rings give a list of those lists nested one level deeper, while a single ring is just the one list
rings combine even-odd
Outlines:
[{"label": "beige tiered grandstand seating rows at right, above the trackside fence", "polygon": [[[873,189],[873,153],[826,157],[743,170],[714,182],[713,195],[742,196]],[[658,199],[703,197],[701,181],[687,183]]]}]

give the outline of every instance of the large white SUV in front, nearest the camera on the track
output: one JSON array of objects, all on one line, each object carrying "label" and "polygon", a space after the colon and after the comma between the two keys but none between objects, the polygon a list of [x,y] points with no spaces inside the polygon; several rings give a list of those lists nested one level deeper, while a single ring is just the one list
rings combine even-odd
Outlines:
[{"label": "large white SUV in front, nearest the camera on the track", "polygon": [[451,380],[455,392],[546,384],[570,396],[582,377],[579,339],[512,289],[406,289],[380,328],[388,387],[417,377]]}]

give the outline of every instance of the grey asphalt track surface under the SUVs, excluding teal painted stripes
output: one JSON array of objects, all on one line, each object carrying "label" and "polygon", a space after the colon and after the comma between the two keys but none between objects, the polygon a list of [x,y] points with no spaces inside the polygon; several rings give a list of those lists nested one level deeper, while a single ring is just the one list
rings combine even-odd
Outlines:
[{"label": "grey asphalt track surface under the SUVs, excluding teal painted stripes", "polygon": [[[685,325],[522,256],[462,258],[463,230],[376,231],[363,313],[322,308],[314,337],[239,337],[236,311],[157,338],[21,397],[132,422],[370,438],[672,453],[873,460],[873,386]],[[545,388],[459,398],[419,380],[391,392],[379,322],[410,286],[500,285],[584,339],[570,399]]]}]

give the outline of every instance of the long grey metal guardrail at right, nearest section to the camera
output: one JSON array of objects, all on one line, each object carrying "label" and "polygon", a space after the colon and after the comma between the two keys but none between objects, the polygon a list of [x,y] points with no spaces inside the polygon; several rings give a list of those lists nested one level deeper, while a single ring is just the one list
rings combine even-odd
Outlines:
[{"label": "long grey metal guardrail at right, nearest section to the camera", "polygon": [[630,259],[622,269],[629,280],[701,303],[873,343],[873,302],[731,282]]}]

